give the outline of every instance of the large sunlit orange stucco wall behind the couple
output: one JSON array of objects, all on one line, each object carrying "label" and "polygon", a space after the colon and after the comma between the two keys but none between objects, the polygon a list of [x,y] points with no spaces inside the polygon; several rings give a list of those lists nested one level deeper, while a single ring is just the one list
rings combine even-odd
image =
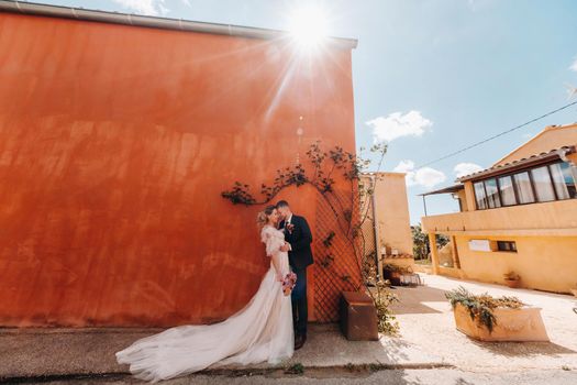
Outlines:
[{"label": "large sunlit orange stucco wall behind the couple", "polygon": [[[1,326],[230,316],[268,261],[221,191],[295,162],[301,116],[302,155],[355,143],[351,52],[287,42],[0,13],[0,106]],[[314,194],[279,198],[314,223]]]}]

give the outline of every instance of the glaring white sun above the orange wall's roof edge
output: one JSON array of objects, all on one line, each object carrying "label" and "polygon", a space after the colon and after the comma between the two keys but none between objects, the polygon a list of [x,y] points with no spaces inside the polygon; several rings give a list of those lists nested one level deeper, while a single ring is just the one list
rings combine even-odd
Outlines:
[{"label": "glaring white sun above the orange wall's roof edge", "polygon": [[306,7],[290,14],[289,31],[299,47],[319,47],[326,37],[326,16],[318,7]]}]

